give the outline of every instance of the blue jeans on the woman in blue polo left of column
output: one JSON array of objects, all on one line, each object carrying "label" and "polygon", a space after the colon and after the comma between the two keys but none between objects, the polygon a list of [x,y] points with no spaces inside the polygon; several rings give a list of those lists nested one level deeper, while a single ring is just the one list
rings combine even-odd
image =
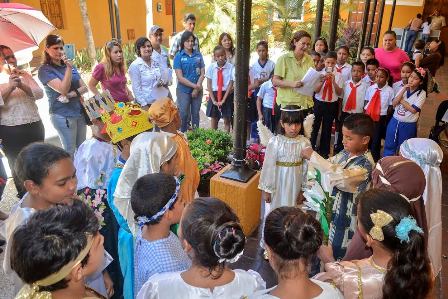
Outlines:
[{"label": "blue jeans on the woman in blue polo left of column", "polygon": [[199,128],[199,110],[201,109],[202,103],[202,91],[193,98],[191,93],[185,93],[176,89],[176,96],[181,120],[181,132],[188,130],[190,116],[193,129]]}]

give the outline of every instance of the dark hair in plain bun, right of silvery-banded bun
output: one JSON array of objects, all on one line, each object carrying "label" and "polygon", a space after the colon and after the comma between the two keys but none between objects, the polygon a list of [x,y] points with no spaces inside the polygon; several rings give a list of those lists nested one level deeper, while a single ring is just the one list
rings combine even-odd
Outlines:
[{"label": "dark hair in plain bun, right of silvery-banded bun", "polygon": [[309,261],[322,239],[319,221],[298,208],[280,207],[266,217],[264,241],[275,254],[274,270],[281,278],[290,278],[291,271],[297,271],[294,260]]}]

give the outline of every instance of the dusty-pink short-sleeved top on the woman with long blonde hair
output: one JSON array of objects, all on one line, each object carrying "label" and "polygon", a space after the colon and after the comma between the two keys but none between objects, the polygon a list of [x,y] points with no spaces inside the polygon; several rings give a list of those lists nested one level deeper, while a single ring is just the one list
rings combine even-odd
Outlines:
[{"label": "dusty-pink short-sleeved top on the woman with long blonde hair", "polygon": [[97,64],[93,70],[92,77],[101,82],[103,90],[109,90],[110,94],[117,102],[127,102],[128,94],[126,92],[126,76],[124,74],[113,74],[109,79],[106,78],[106,72],[102,63]]}]

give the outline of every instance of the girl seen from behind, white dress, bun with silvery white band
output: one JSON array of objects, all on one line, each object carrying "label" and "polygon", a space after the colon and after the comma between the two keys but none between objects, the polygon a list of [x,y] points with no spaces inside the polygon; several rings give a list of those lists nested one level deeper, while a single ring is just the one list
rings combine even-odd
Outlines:
[{"label": "girl seen from behind, white dress, bun with silvery white band", "polygon": [[153,275],[137,299],[247,298],[265,288],[258,273],[227,266],[243,255],[245,236],[238,217],[224,202],[195,199],[184,209],[179,237],[192,266],[184,272]]}]

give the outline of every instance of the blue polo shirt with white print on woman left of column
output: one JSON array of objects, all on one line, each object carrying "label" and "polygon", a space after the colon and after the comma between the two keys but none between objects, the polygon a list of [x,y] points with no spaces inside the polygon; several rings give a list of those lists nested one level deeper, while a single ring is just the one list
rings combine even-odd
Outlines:
[{"label": "blue polo shirt with white print on woman left of column", "polygon": [[[202,54],[198,51],[193,51],[193,53],[188,55],[184,50],[177,52],[174,57],[174,69],[182,70],[182,75],[188,81],[196,84],[201,76],[201,69],[205,67],[204,59]],[[181,83],[177,84],[177,88],[184,93],[192,93],[193,88],[183,85]]]}]

